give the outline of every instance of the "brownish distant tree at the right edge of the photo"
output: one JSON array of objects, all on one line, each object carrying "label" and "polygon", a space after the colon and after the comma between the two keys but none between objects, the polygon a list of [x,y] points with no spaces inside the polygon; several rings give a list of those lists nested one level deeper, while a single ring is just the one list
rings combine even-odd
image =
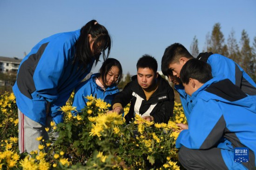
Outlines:
[{"label": "brownish distant tree at the right edge of the photo", "polygon": [[255,75],[255,57],[253,56],[253,48],[249,45],[250,40],[247,32],[242,31],[241,43],[241,56],[242,56],[242,68],[249,76]]}]

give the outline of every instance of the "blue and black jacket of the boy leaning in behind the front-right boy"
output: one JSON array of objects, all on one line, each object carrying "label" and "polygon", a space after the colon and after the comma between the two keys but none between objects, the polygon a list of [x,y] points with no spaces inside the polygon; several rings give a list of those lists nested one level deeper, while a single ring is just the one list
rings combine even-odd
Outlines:
[{"label": "blue and black jacket of the boy leaning in behind the front-right boy", "polygon": [[[200,53],[197,59],[207,62],[211,66],[212,76],[214,78],[217,76],[228,78],[247,95],[256,95],[255,82],[232,59],[224,57],[221,54],[212,54],[211,52]],[[191,102],[189,95],[185,93],[182,85],[175,85],[175,89],[180,94],[184,113],[189,120],[189,114],[193,108],[193,103]]]}]

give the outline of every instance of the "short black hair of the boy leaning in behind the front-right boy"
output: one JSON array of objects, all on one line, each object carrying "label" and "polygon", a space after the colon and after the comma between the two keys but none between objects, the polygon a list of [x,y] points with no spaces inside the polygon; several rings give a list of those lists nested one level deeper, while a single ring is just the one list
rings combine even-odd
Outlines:
[{"label": "short black hair of the boy leaning in behind the front-right boy", "polygon": [[168,76],[170,71],[168,70],[169,65],[173,62],[177,63],[179,62],[179,59],[181,57],[186,57],[188,59],[193,59],[194,57],[189,53],[189,51],[182,46],[180,43],[174,43],[170,46],[168,46],[164,54],[162,56],[162,62],[161,62],[161,70],[163,75]]}]

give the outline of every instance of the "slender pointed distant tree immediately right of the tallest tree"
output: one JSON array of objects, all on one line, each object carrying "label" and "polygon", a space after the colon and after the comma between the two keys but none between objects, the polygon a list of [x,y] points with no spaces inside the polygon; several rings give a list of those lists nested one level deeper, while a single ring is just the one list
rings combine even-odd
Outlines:
[{"label": "slender pointed distant tree immediately right of the tallest tree", "polygon": [[232,29],[229,38],[228,38],[228,52],[229,52],[229,57],[230,59],[233,59],[237,64],[241,64],[241,55],[239,51],[239,46],[237,44],[236,38],[235,38],[235,31]]}]

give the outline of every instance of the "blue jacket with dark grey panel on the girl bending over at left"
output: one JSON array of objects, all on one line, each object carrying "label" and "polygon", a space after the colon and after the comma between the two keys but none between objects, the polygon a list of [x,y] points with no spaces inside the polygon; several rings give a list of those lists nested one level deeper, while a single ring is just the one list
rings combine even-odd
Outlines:
[{"label": "blue jacket with dark grey panel on the girl bending over at left", "polygon": [[28,118],[45,125],[49,114],[55,123],[62,121],[60,107],[94,63],[82,69],[73,62],[79,36],[80,30],[54,34],[41,40],[21,61],[13,93],[18,108]]}]

